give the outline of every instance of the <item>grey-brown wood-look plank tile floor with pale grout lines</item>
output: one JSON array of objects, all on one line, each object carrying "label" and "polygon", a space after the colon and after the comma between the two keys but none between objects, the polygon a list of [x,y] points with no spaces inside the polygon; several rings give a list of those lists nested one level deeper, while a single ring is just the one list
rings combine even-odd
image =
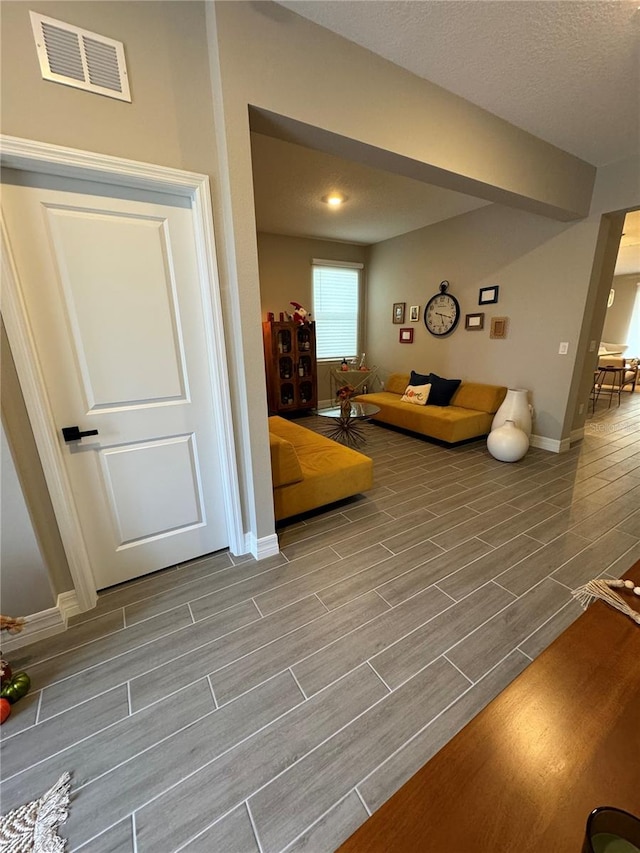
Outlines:
[{"label": "grey-brown wood-look plank tile floor with pale grout lines", "polygon": [[[303,423],[321,429],[320,418]],[[568,453],[371,425],[375,488],[104,592],[13,652],[2,811],[73,779],[69,850],[332,851],[640,558],[640,393]]]}]

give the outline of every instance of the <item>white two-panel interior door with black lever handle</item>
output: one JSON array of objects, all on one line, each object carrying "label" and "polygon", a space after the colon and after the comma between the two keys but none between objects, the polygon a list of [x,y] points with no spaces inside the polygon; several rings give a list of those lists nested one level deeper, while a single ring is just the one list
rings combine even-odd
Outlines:
[{"label": "white two-panel interior door with black lever handle", "polygon": [[2,208],[96,588],[226,547],[190,203],[6,170]]}]

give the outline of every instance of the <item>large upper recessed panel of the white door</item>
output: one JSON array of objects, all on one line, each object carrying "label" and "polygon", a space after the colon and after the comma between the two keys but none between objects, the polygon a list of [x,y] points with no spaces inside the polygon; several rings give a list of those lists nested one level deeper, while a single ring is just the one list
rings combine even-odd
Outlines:
[{"label": "large upper recessed panel of the white door", "polygon": [[167,222],[49,205],[44,210],[87,408],[184,399]]}]

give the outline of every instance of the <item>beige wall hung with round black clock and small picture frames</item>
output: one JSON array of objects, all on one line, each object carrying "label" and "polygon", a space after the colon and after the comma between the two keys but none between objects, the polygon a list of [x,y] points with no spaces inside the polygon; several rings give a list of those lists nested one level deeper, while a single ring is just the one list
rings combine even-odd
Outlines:
[{"label": "beige wall hung with round black clock and small picture frames", "polygon": [[[449,378],[527,388],[534,433],[559,440],[576,357],[597,221],[569,225],[492,205],[372,246],[366,346],[387,372],[434,371]],[[446,338],[422,321],[427,300],[447,279],[462,318]],[[478,305],[481,287],[499,302]],[[398,343],[393,302],[420,305],[414,343]],[[484,313],[482,331],[464,315]],[[489,338],[490,319],[509,318],[506,340]],[[569,354],[561,356],[561,341]]]}]

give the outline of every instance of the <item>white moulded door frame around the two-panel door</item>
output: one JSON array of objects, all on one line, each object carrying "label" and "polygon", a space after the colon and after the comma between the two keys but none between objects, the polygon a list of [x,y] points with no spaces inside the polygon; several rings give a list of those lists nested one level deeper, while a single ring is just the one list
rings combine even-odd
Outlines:
[{"label": "white moulded door frame around the two-panel door", "polygon": [[[201,292],[208,302],[206,307],[209,309],[205,311],[203,319],[207,338],[211,391],[215,402],[213,418],[219,437],[221,488],[229,549],[233,554],[245,553],[233,419],[227,392],[229,384],[227,356],[208,176],[4,134],[0,134],[0,163],[4,168],[116,184],[189,199],[198,270],[203,283]],[[75,501],[65,468],[62,443],[53,420],[36,356],[29,319],[22,298],[20,279],[11,256],[10,242],[1,214],[0,231],[2,315],[60,536],[69,561],[69,570],[77,597],[77,612],[83,612],[95,606],[96,584],[75,511]]]}]

